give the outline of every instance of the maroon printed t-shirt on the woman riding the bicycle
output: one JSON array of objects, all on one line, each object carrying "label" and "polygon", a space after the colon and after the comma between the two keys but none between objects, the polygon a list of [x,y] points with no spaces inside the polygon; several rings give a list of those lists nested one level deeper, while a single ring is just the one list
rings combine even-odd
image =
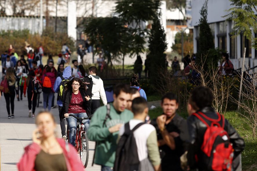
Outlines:
[{"label": "maroon printed t-shirt on the woman riding the bicycle", "polygon": [[85,107],[83,106],[83,98],[80,92],[78,94],[72,93],[68,113],[86,113]]}]

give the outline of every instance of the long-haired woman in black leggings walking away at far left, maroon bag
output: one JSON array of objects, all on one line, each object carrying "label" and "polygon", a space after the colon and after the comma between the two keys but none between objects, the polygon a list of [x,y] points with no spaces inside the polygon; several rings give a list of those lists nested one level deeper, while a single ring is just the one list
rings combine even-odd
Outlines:
[{"label": "long-haired woman in black leggings walking away at far left, maroon bag", "polygon": [[[6,70],[6,76],[5,76],[4,81],[6,81],[9,91],[4,92],[3,96],[6,100],[6,109],[7,109],[7,113],[8,113],[8,119],[11,119],[11,118],[15,118],[15,116],[14,116],[14,98],[15,98],[15,89],[18,89],[18,83],[17,83],[16,77],[14,75],[13,68],[8,68]],[[10,113],[10,104],[11,104],[12,116]]]}]

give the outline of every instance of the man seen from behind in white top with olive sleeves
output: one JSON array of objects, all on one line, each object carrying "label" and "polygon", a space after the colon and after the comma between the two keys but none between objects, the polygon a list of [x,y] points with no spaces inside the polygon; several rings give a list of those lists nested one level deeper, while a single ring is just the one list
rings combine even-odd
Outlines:
[{"label": "man seen from behind in white top with olive sleeves", "polygon": [[[151,124],[147,124],[147,123],[144,124],[145,118],[148,115],[147,101],[143,97],[135,98],[132,101],[132,112],[134,114],[134,118],[121,127],[119,131],[119,136],[121,136],[122,138],[123,134],[125,134],[126,136],[129,130],[133,130],[138,125],[141,125],[133,131],[133,135],[136,140],[135,145],[138,153],[139,170],[160,171],[161,159],[160,159],[159,148],[157,143],[156,129]],[[119,144],[120,143],[122,143],[122,141],[119,142]],[[126,148],[124,147],[123,149],[125,150]],[[122,154],[119,154],[117,150],[116,162],[119,161],[119,158],[120,158],[119,155],[122,155]],[[122,163],[119,163],[119,164],[122,164]],[[129,166],[124,166],[124,165],[120,166],[120,168],[125,168],[125,167],[129,167]]]}]

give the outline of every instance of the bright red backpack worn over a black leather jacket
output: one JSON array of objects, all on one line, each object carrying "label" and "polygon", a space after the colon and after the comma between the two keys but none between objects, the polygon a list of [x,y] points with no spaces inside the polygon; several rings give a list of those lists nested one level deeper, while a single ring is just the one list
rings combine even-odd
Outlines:
[{"label": "bright red backpack worn over a black leather jacket", "polygon": [[193,114],[207,126],[201,146],[202,153],[206,155],[205,162],[199,164],[205,165],[206,170],[230,171],[234,149],[227,131],[224,130],[225,119],[219,113],[217,114],[218,119],[209,118],[202,112]]}]

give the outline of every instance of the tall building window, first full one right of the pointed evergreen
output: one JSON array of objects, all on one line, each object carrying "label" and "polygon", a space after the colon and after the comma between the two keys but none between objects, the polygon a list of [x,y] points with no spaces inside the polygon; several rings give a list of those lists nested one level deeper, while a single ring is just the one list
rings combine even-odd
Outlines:
[{"label": "tall building window, first full one right of the pointed evergreen", "polygon": [[227,24],[225,21],[218,23],[218,47],[227,51]]}]

